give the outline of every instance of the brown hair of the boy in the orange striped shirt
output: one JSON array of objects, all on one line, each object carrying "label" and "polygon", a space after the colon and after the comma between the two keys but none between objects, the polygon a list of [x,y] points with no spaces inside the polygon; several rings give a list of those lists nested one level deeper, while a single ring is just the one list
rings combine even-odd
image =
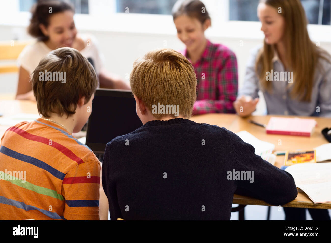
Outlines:
[{"label": "brown hair of the boy in the orange striped shirt", "polygon": [[[44,70],[53,74],[44,80]],[[54,73],[64,72],[65,82]],[[62,73],[63,74],[63,73]],[[32,72],[32,89],[39,114],[50,117],[74,114],[78,100],[85,97],[86,104],[98,86],[98,79],[91,63],[79,51],[70,47],[58,48],[44,57]],[[64,76],[64,75],[63,75]]]}]

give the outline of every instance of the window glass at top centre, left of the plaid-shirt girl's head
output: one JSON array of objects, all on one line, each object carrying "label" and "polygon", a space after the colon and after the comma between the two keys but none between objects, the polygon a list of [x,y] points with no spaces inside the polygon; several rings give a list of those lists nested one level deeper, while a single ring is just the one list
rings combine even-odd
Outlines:
[{"label": "window glass at top centre, left of the plaid-shirt girl's head", "polygon": [[116,12],[135,14],[171,14],[177,0],[116,0]]}]

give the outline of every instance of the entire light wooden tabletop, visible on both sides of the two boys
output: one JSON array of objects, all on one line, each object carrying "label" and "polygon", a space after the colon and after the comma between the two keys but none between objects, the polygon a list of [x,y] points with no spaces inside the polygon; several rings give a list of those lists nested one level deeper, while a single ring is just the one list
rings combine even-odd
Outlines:
[{"label": "entire light wooden tabletop, visible on both sides of the two boys", "polygon": [[[17,113],[38,114],[37,104],[34,101],[0,99],[0,113],[3,114],[3,117]],[[251,119],[259,123],[267,124],[270,117],[271,116],[267,115],[267,116],[250,116],[248,118],[242,118],[236,114],[204,114],[204,115],[192,116],[191,120],[198,123],[208,123],[211,125],[217,125],[219,127],[225,127],[226,129],[234,133],[237,133],[242,130],[246,130],[262,141],[271,142],[275,144],[276,151],[298,150],[298,149],[308,150],[308,149],[313,149],[324,143],[327,143],[327,141],[321,134],[321,130],[331,125],[331,118],[313,117],[313,119],[317,121],[317,126],[315,128],[315,131],[310,137],[266,134],[265,129],[263,127],[248,122],[248,120]],[[286,116],[286,117],[290,117],[290,116]],[[9,128],[8,126],[0,125],[0,137],[2,137],[3,133],[8,128]],[[280,168],[284,163],[284,157],[285,156],[277,156],[275,166]],[[233,197],[233,203],[242,204],[242,205],[272,206],[262,200],[258,200],[246,196],[240,196],[236,194]],[[283,205],[283,207],[331,209],[331,202],[314,204],[306,195],[306,193],[298,192],[297,198],[294,199],[292,202]]]}]

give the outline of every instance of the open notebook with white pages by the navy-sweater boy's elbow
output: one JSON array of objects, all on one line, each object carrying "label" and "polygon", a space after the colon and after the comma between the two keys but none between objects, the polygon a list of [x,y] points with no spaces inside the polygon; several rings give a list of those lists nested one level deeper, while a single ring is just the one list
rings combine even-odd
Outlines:
[{"label": "open notebook with white pages by the navy-sweater boy's elbow", "polygon": [[314,203],[331,202],[331,163],[304,163],[285,169]]}]

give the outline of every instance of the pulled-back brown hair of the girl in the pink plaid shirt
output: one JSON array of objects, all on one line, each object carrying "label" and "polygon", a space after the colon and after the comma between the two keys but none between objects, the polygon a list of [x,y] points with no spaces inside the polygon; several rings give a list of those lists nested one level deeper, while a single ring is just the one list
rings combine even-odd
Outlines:
[{"label": "pulled-back brown hair of the girl in the pink plaid shirt", "polygon": [[206,20],[211,20],[205,4],[199,0],[178,0],[172,8],[172,17],[175,20],[180,15],[187,15],[191,18],[198,19],[202,24]]}]

